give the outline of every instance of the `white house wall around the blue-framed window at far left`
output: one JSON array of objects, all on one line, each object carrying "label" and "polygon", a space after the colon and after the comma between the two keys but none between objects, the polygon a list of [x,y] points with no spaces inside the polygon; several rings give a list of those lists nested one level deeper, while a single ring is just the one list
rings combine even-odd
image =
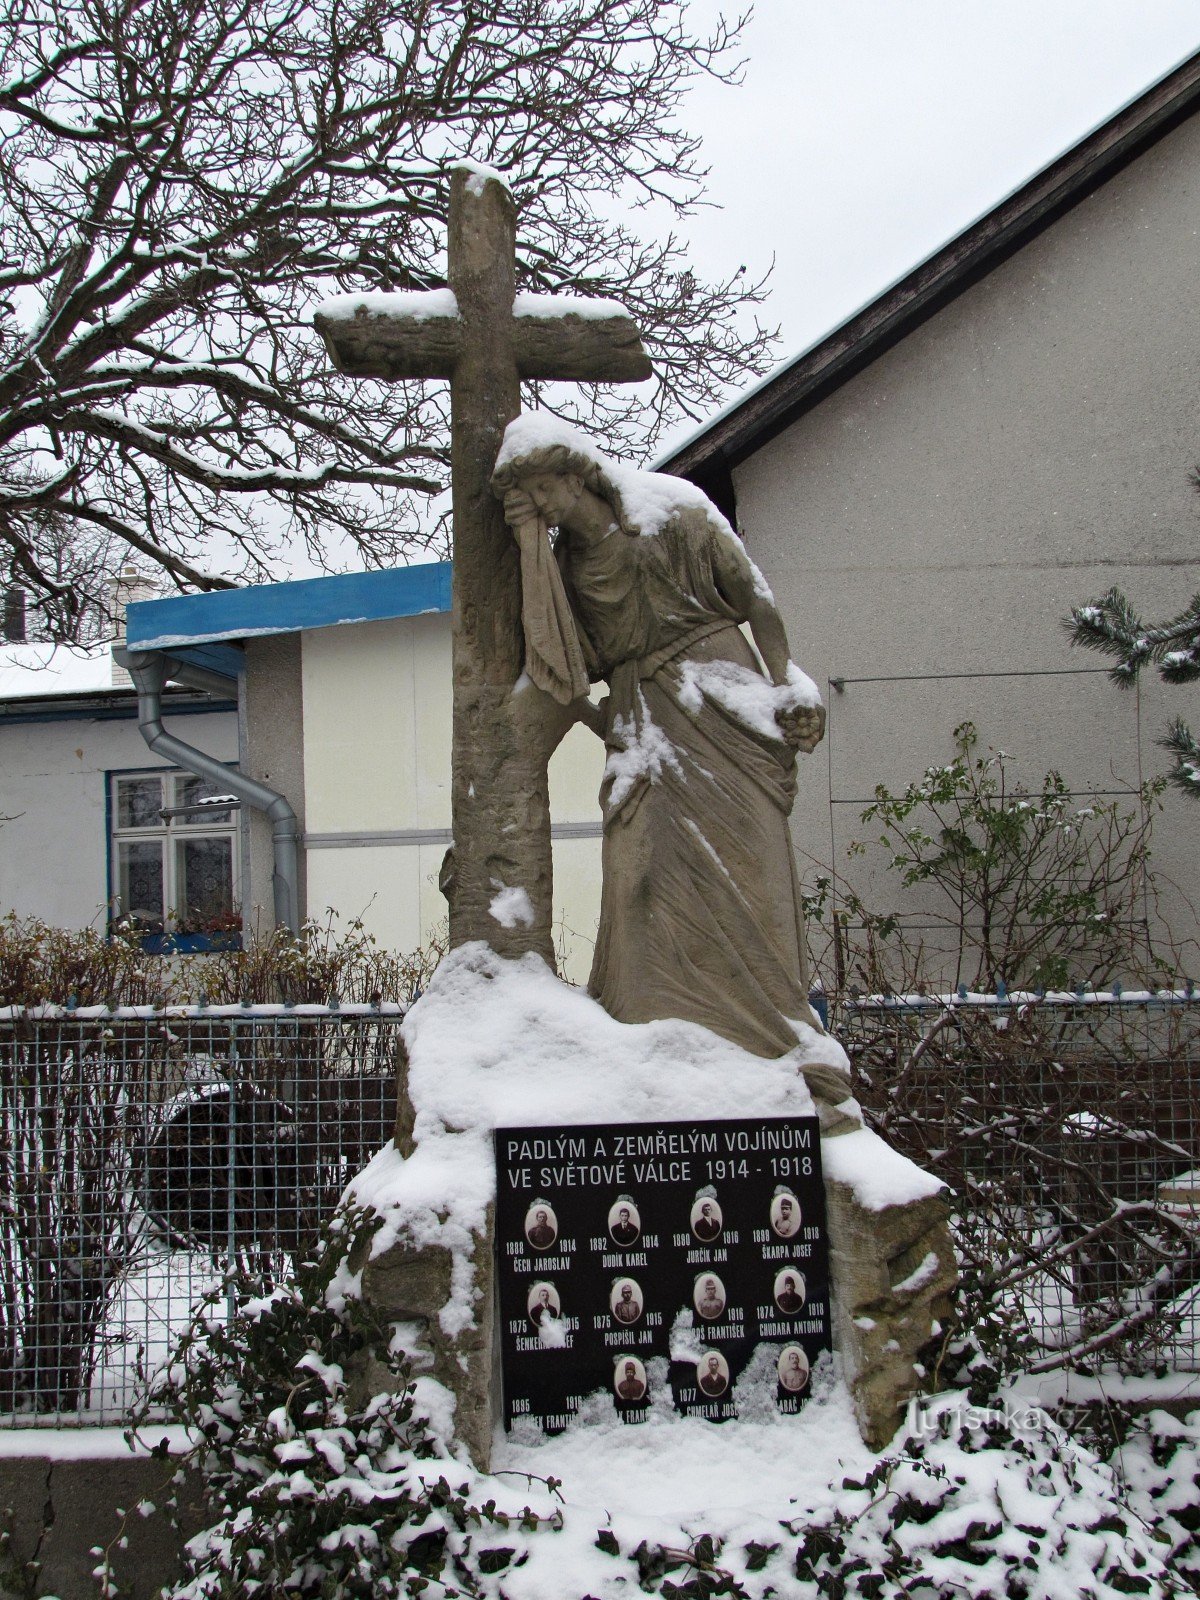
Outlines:
[{"label": "white house wall around the blue-framed window at far left", "polygon": [[[237,715],[166,715],[189,744],[237,760]],[[0,914],[61,928],[102,926],[107,915],[110,771],[166,768],[130,718],[0,723]]]}]

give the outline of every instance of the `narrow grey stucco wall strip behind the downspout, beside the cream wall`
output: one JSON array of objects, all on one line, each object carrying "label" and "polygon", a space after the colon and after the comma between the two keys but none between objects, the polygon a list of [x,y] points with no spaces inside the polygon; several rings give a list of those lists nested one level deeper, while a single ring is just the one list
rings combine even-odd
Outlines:
[{"label": "narrow grey stucco wall strip behind the downspout, beside the cream wall", "polygon": [[[246,677],[242,691],[242,770],[285,795],[304,829],[304,693],[299,634],[246,640]],[[272,914],[270,822],[250,811],[250,893],[243,912],[250,931],[269,933]],[[307,910],[304,851],[299,867],[301,917]]]}]

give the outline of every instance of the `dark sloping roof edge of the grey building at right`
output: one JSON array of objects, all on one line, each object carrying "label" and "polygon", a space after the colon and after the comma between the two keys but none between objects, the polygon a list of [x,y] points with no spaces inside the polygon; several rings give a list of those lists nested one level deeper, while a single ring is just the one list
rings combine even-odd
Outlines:
[{"label": "dark sloping roof edge of the grey building at right", "polygon": [[733,518],[733,467],[1035,234],[1200,110],[1200,51],[1072,146],[800,355],[747,389],[658,464]]}]

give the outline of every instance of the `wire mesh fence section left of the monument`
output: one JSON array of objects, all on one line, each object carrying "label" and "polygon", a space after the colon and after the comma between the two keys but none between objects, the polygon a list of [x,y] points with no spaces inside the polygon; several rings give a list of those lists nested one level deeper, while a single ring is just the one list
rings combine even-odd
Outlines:
[{"label": "wire mesh fence section left of the monument", "polygon": [[0,1424],[117,1422],[392,1136],[400,1006],[0,1011]]}]

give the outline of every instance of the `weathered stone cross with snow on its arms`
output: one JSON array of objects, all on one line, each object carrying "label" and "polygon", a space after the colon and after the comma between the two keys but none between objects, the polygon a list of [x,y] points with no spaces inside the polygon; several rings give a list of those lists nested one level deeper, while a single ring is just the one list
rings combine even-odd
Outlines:
[{"label": "weathered stone cross with snow on its arms", "polygon": [[[442,886],[450,942],[554,965],[547,763],[573,720],[523,686],[520,565],[490,478],[520,381],[638,382],[651,368],[626,315],[582,317],[554,296],[515,291],[517,208],[504,182],[470,166],[450,187],[445,314],[397,314],[373,298],[350,317],[315,317],[334,366],[354,378],[448,378],[451,402],[453,830]],[[504,896],[504,890],[523,890]],[[498,899],[498,896],[502,896]]]}]

